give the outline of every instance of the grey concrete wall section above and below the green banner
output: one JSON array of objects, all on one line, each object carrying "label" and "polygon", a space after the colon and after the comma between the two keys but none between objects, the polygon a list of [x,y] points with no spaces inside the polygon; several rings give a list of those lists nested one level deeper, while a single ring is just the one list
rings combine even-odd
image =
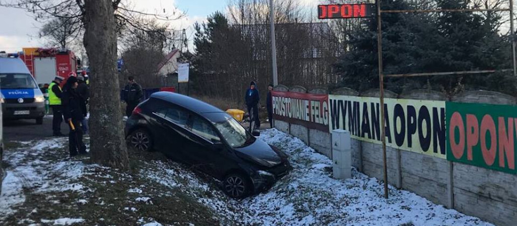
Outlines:
[{"label": "grey concrete wall section above and below the green banner", "polygon": [[[512,96],[490,91],[466,92],[454,102],[515,105]],[[452,163],[454,208],[497,225],[515,225],[517,221],[517,176],[509,173]]]}]

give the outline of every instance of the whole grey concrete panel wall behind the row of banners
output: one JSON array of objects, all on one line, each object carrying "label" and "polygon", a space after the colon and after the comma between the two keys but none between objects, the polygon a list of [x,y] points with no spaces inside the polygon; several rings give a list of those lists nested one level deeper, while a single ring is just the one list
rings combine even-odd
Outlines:
[{"label": "whole grey concrete panel wall behind the row of banners", "polygon": [[[283,89],[287,91],[286,87]],[[278,89],[277,89],[278,90]],[[282,91],[284,91],[282,90]],[[305,93],[301,86],[294,92]],[[314,89],[309,93],[327,93]],[[330,94],[378,97],[378,90],[358,92],[340,88]],[[386,98],[448,100],[443,94],[429,90],[414,90],[398,95],[385,91]],[[469,91],[451,98],[454,102],[516,105],[517,99],[490,91]],[[331,158],[331,135],[276,121],[275,127],[299,137],[318,152]],[[515,225],[517,221],[517,176],[461,163],[449,162],[416,152],[386,147],[388,182],[414,192],[430,201],[496,225]],[[352,165],[368,176],[383,180],[382,146],[352,139]]]}]

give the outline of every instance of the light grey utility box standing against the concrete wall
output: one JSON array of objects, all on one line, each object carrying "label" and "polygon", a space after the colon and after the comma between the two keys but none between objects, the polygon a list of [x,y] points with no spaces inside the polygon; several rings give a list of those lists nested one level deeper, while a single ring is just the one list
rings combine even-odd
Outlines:
[{"label": "light grey utility box standing against the concrete wall", "polygon": [[332,169],[336,179],[352,178],[352,147],[346,130],[332,130]]}]

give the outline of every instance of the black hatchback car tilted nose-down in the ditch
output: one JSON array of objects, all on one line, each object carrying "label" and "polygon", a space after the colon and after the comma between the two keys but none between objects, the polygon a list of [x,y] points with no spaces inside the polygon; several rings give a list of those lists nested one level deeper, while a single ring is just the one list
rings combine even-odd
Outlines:
[{"label": "black hatchback car tilted nose-down in the ditch", "polygon": [[285,153],[232,116],[180,94],[151,95],[134,109],[125,132],[131,146],[161,151],[221,180],[233,198],[261,192],[291,169]]}]

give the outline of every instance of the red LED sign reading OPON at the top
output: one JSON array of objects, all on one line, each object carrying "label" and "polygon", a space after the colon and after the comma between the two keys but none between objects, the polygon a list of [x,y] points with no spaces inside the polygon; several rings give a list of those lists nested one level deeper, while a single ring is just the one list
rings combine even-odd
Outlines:
[{"label": "red LED sign reading OPON at the top", "polygon": [[319,5],[319,19],[370,18],[375,15],[375,4]]}]

